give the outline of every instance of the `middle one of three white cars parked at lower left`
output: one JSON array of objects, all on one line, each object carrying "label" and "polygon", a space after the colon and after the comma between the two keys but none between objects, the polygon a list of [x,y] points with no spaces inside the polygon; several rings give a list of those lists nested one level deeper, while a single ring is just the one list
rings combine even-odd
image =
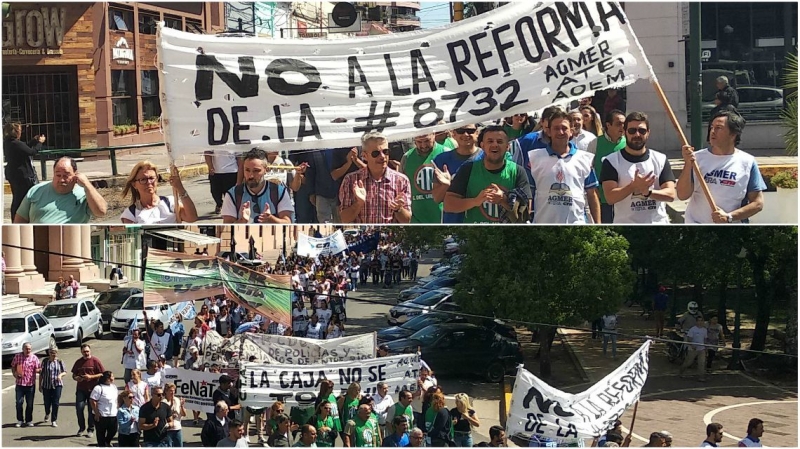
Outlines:
[{"label": "middle one of three white cars parked at lower left", "polygon": [[80,346],[87,335],[103,338],[100,310],[88,299],[61,299],[48,304],[42,314],[53,325],[56,342]]}]

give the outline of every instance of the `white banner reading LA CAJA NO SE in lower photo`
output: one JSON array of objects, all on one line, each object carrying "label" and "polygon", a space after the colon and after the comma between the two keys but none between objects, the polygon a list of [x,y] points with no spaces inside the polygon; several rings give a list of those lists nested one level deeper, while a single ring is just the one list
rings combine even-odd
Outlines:
[{"label": "white banner reading LA CAJA NO SE in lower photo", "polygon": [[240,401],[245,406],[269,407],[275,401],[293,406],[313,405],[319,382],[333,382],[337,396],[351,382],[361,384],[361,392],[373,395],[379,382],[389,386],[395,396],[403,389],[415,391],[419,375],[419,355],[405,354],[377,359],[328,363],[324,365],[263,365],[245,363],[241,369]]}]

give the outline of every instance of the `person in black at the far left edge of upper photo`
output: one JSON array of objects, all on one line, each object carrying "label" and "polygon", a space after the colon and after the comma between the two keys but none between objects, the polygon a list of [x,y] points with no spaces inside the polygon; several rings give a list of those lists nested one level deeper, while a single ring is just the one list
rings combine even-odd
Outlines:
[{"label": "person in black at the far left edge of upper photo", "polygon": [[3,159],[6,162],[6,180],[11,185],[11,220],[17,214],[17,209],[22,199],[28,194],[31,187],[39,183],[36,170],[33,169],[33,157],[38,153],[25,142],[19,140],[22,136],[22,125],[19,123],[6,123],[3,126]]}]

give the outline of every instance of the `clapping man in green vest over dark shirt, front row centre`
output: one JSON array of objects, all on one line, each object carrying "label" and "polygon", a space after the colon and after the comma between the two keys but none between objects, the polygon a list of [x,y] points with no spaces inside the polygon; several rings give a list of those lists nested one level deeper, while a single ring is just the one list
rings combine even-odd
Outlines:
[{"label": "clapping man in green vest over dark shirt, front row centre", "polygon": [[509,192],[531,197],[525,169],[507,160],[508,135],[502,126],[488,126],[481,133],[484,157],[465,162],[458,169],[444,197],[445,212],[465,212],[464,223],[498,223],[501,210],[511,210]]}]

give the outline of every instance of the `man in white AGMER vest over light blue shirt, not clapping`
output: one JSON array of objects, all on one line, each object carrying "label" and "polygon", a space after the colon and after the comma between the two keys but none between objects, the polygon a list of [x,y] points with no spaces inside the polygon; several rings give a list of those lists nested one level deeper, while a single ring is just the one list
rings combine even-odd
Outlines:
[{"label": "man in white AGMER vest over light blue shirt, not clapping", "polygon": [[[561,109],[548,117],[550,143],[528,152],[534,181],[534,223],[600,223],[600,199],[594,155],[578,151],[573,143],[569,114]],[[526,136],[527,137],[527,136]],[[591,217],[586,215],[588,204]]]}]

